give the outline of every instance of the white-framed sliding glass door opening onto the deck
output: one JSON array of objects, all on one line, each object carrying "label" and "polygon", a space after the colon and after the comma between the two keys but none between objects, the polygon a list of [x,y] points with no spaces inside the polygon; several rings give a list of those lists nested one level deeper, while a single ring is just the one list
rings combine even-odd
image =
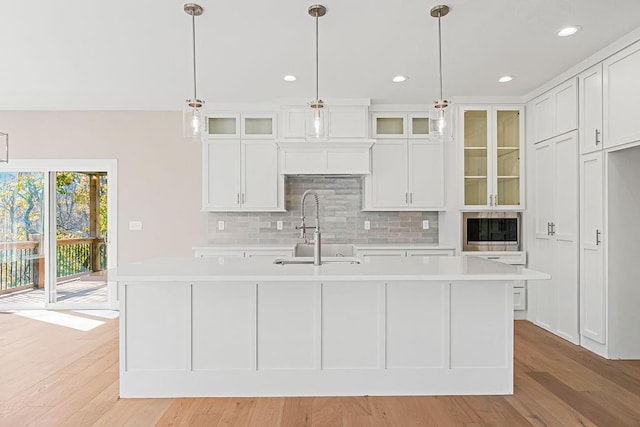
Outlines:
[{"label": "white-framed sliding glass door opening onto the deck", "polygon": [[114,160],[0,168],[0,310],[117,308]]}]

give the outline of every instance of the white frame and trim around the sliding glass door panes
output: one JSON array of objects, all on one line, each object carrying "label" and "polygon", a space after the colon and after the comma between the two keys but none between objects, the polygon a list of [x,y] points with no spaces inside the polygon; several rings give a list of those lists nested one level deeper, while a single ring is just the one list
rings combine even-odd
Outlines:
[{"label": "white frame and trim around the sliding glass door panes", "polygon": [[[44,308],[54,310],[70,309],[118,309],[117,283],[109,280],[107,276],[106,303],[77,304],[49,302],[55,292],[55,286],[51,286],[51,278],[56,277],[56,234],[55,234],[55,186],[51,185],[52,172],[67,171],[100,171],[107,173],[107,269],[117,267],[118,261],[118,160],[117,159],[11,159],[8,163],[0,164],[0,171],[11,172],[40,172],[44,179],[44,199],[46,217],[44,222],[43,248],[45,249],[45,295]],[[53,214],[53,215],[52,215]],[[41,306],[9,305],[0,307],[2,310],[33,309]]]}]

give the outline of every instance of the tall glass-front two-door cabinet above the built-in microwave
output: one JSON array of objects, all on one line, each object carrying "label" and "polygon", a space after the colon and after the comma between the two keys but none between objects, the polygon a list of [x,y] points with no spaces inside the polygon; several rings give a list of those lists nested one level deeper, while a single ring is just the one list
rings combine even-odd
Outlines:
[{"label": "tall glass-front two-door cabinet above the built-in microwave", "polygon": [[460,109],[465,208],[524,208],[523,112],[521,106]]}]

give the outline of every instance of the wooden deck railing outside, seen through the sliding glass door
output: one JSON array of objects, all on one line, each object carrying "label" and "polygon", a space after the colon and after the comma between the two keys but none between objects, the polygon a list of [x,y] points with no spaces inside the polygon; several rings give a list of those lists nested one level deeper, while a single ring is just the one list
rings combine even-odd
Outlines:
[{"label": "wooden deck railing outside, seen through the sliding glass door", "polygon": [[[0,243],[0,294],[44,286],[44,263],[40,243]],[[56,276],[60,280],[104,270],[107,245],[104,238],[58,239]]]}]

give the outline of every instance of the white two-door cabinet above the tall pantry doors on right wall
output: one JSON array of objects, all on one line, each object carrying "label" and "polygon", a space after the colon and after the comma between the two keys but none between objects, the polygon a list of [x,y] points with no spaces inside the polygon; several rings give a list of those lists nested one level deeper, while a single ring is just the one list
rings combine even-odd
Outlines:
[{"label": "white two-door cabinet above the tall pantry doors on right wall", "polygon": [[540,142],[578,128],[578,90],[570,79],[535,98],[527,105],[531,114],[532,136]]}]

